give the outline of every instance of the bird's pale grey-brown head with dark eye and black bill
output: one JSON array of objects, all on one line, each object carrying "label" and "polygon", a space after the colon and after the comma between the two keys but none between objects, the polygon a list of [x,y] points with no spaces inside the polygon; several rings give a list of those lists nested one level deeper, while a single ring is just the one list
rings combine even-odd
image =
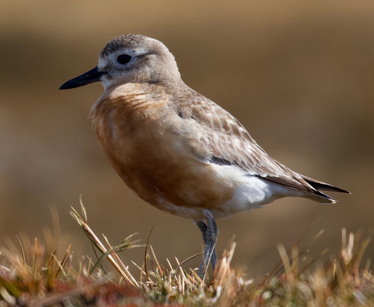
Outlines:
[{"label": "bird's pale grey-brown head with dark eye and black bill", "polygon": [[163,43],[150,37],[128,34],[107,43],[95,68],[64,83],[60,89],[93,82],[100,82],[106,90],[125,83],[168,86],[180,81],[174,56]]}]

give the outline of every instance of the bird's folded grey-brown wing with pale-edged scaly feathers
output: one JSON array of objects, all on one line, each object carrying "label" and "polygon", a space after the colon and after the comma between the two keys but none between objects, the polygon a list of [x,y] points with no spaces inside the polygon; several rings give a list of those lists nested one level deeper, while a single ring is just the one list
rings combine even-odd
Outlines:
[{"label": "bird's folded grey-brown wing with pale-edged scaly feathers", "polygon": [[[186,99],[187,98],[187,99]],[[178,115],[199,124],[199,141],[209,147],[215,163],[237,165],[249,175],[260,176],[286,187],[318,193],[304,178],[272,159],[229,112],[199,93],[176,99]]]}]

